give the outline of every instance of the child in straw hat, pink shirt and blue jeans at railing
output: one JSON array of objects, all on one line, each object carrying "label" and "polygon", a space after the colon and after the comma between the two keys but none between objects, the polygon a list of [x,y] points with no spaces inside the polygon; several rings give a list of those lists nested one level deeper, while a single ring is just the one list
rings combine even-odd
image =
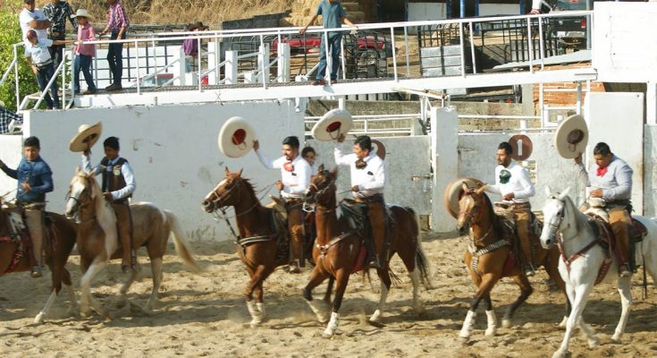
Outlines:
[{"label": "child in straw hat, pink shirt and blue jeans at railing", "polygon": [[84,75],[84,81],[87,82],[87,90],[82,92],[83,95],[93,95],[96,93],[96,83],[91,75],[91,60],[96,55],[96,45],[87,45],[84,41],[93,41],[96,39],[94,27],[89,23],[94,20],[85,9],[78,9],[73,15],[78,20],[78,41],[75,43],[75,63],[73,64],[73,86],[75,94],[80,94],[80,70]]}]

